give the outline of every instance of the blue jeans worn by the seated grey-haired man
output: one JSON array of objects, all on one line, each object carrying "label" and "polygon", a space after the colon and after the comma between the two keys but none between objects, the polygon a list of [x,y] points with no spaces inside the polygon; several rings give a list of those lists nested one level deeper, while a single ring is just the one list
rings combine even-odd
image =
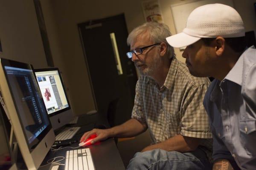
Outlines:
[{"label": "blue jeans worn by the seated grey-haired man", "polygon": [[206,153],[200,148],[192,152],[150,150],[138,152],[127,166],[128,170],[212,170]]}]

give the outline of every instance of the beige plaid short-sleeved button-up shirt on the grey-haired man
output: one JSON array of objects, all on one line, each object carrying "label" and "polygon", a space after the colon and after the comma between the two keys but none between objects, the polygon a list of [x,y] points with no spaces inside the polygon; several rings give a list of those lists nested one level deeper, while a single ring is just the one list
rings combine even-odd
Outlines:
[{"label": "beige plaid short-sleeved button-up shirt on the grey-haired man", "polygon": [[211,160],[212,135],[203,106],[209,83],[208,78],[192,76],[174,57],[161,88],[152,78],[140,76],[131,117],[147,124],[153,143],[179,134],[204,138],[199,147]]}]

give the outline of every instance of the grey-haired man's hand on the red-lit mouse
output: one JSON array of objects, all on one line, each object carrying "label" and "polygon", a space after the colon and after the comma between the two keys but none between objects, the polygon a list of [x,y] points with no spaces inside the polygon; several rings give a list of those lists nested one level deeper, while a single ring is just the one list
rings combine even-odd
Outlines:
[{"label": "grey-haired man's hand on the red-lit mouse", "polygon": [[94,144],[96,143],[97,141],[103,141],[103,140],[106,140],[107,138],[110,137],[110,133],[109,133],[109,130],[106,129],[106,130],[102,130],[102,129],[93,129],[91,131],[88,131],[86,133],[84,133],[84,135],[81,137],[80,139],[80,142],[82,141],[86,141],[87,138],[89,138],[91,135],[94,135],[96,134],[96,138],[94,138],[92,141],[91,141],[91,144]]}]

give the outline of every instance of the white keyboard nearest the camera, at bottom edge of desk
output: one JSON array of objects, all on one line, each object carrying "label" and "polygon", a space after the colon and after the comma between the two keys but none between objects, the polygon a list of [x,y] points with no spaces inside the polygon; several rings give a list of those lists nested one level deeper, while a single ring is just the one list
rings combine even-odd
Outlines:
[{"label": "white keyboard nearest the camera, at bottom edge of desk", "polygon": [[65,170],[95,170],[90,149],[68,150]]}]

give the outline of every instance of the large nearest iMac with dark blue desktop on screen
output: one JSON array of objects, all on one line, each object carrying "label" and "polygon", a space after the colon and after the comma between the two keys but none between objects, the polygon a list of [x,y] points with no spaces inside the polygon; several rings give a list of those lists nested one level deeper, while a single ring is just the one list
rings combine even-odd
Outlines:
[{"label": "large nearest iMac with dark blue desktop on screen", "polygon": [[27,168],[36,170],[55,135],[32,66],[0,58],[0,80],[0,94],[20,152]]}]

